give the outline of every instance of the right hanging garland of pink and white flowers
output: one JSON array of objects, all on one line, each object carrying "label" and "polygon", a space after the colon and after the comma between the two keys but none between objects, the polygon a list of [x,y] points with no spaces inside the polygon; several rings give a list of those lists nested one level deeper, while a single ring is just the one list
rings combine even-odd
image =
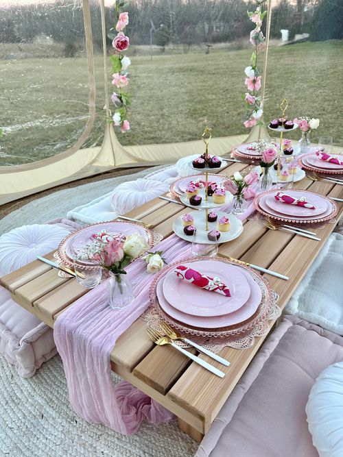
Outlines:
[{"label": "right hanging garland of pink and white flowers", "polygon": [[263,49],[265,38],[261,31],[263,18],[267,14],[267,10],[263,10],[265,0],[257,0],[257,8],[255,12],[248,11],[248,16],[252,23],[255,23],[255,29],[250,32],[250,43],[255,46],[250,58],[250,66],[247,66],[244,72],[246,73],[245,84],[248,88],[242,98],[246,102],[246,117],[244,118],[244,127],[253,127],[254,125],[263,125],[261,117],[263,110],[261,108],[261,95],[257,92],[261,89],[261,74],[257,69],[257,57],[259,51]]}]

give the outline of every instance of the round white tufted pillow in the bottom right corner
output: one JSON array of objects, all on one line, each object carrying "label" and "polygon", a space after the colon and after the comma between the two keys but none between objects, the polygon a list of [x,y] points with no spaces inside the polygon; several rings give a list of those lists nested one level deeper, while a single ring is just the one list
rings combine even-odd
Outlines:
[{"label": "round white tufted pillow in the bottom right corner", "polygon": [[343,362],[324,369],[306,405],[312,441],[320,457],[343,456]]}]

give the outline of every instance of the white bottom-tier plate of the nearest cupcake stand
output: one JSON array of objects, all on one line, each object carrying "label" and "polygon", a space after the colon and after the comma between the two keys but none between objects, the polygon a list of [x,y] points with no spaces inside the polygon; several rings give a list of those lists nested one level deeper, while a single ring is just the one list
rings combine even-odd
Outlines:
[{"label": "white bottom-tier plate of the nearest cupcake stand", "polygon": [[[194,223],[192,225],[195,225],[198,230],[198,234],[200,234],[200,238],[198,238],[198,243],[204,244],[204,245],[210,245],[210,244],[215,244],[215,243],[226,243],[227,241],[234,240],[237,238],[244,230],[243,223],[235,217],[234,214],[226,214],[226,212],[221,212],[221,211],[216,211],[217,213],[217,221],[222,216],[228,217],[230,220],[230,230],[228,232],[220,232],[220,238],[219,240],[216,241],[210,241],[209,238],[207,237],[207,234],[211,232],[211,230],[217,230],[217,221],[215,222],[209,222],[208,227],[209,231],[206,232],[205,230],[205,225],[206,225],[206,214],[204,211],[191,211],[189,214],[193,216]],[[186,213],[185,213],[186,214]],[[183,215],[183,214],[182,214]],[[186,235],[185,232],[183,231],[184,225],[182,223],[182,216],[178,217],[178,219],[175,219],[173,223],[173,230],[174,233],[182,238],[182,240],[186,241],[193,241],[193,236],[192,235]]]}]

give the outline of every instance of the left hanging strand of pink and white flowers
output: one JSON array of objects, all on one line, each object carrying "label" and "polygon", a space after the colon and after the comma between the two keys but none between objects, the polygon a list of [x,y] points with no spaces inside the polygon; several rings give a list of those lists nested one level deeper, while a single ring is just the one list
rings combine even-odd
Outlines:
[{"label": "left hanging strand of pink and white flowers", "polygon": [[123,32],[126,25],[128,25],[129,18],[127,12],[120,12],[121,8],[126,6],[124,0],[115,2],[115,14],[117,24],[112,30],[116,30],[118,33],[109,33],[108,38],[113,39],[112,45],[115,49],[115,54],[110,56],[112,62],[112,84],[117,87],[116,91],[113,92],[111,100],[115,106],[115,114],[113,114],[112,120],[116,127],[120,127],[121,133],[128,132],[130,130],[130,123],[126,118],[126,110],[130,105],[130,97],[127,92],[123,90],[128,85],[130,79],[128,78],[128,67],[131,64],[130,58],[123,55],[123,52],[128,49],[130,40],[128,36]]}]

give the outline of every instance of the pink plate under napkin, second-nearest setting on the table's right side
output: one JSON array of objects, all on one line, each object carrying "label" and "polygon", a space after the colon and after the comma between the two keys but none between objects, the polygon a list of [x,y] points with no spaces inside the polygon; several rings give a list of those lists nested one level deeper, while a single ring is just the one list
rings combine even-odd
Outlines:
[{"label": "pink plate under napkin, second-nearest setting on the table's right side", "polygon": [[306,197],[308,203],[315,206],[315,209],[311,210],[310,208],[303,208],[303,206],[289,205],[282,201],[277,201],[274,198],[274,195],[268,195],[265,199],[265,203],[270,209],[292,217],[318,216],[329,208],[329,201],[323,199],[320,195],[308,194],[303,191],[296,192],[294,190],[286,190],[286,193],[294,198]]}]

